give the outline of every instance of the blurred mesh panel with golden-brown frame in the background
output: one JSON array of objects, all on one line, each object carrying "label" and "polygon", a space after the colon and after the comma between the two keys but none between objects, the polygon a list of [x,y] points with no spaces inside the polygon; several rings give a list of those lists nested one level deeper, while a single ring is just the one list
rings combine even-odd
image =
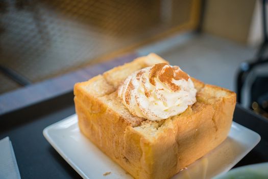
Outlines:
[{"label": "blurred mesh panel with golden-brown frame in the background", "polygon": [[[38,82],[189,22],[195,1],[1,0],[0,64]],[[19,85],[0,74],[0,93]]]}]

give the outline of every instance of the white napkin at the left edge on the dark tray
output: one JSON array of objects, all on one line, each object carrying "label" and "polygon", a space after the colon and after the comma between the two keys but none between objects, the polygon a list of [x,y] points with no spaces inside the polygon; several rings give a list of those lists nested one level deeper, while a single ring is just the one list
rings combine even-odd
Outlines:
[{"label": "white napkin at the left edge on the dark tray", "polygon": [[20,178],[15,153],[9,137],[0,140],[0,178]]}]

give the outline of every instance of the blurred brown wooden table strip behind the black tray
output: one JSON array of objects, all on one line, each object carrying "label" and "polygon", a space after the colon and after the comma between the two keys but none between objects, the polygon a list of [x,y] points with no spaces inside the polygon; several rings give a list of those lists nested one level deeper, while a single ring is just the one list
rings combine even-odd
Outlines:
[{"label": "blurred brown wooden table strip behind the black tray", "polygon": [[75,83],[86,81],[93,76],[102,74],[114,66],[132,61],[136,57],[137,55],[135,53],[117,57],[103,63],[87,66],[84,69],[60,77],[48,79],[0,95],[0,115],[69,93],[73,90]]}]

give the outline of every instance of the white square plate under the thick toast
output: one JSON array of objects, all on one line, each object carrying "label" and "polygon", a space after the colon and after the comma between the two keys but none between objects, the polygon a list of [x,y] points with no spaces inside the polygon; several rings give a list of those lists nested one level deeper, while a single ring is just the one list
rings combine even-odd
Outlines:
[{"label": "white square plate under the thick toast", "polygon": [[[52,124],[43,130],[46,140],[83,178],[132,178],[82,135],[77,115]],[[228,138],[198,161],[175,175],[177,178],[211,178],[227,172],[260,141],[260,136],[235,122]],[[111,172],[104,175],[106,172]]]}]

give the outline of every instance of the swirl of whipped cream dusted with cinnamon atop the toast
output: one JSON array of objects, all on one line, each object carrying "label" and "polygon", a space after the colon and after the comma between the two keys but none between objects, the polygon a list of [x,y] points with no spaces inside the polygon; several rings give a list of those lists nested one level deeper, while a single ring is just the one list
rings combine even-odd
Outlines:
[{"label": "swirl of whipped cream dusted with cinnamon atop the toast", "polygon": [[196,93],[189,75],[167,63],[134,72],[118,88],[132,115],[152,121],[182,113],[196,102]]}]

